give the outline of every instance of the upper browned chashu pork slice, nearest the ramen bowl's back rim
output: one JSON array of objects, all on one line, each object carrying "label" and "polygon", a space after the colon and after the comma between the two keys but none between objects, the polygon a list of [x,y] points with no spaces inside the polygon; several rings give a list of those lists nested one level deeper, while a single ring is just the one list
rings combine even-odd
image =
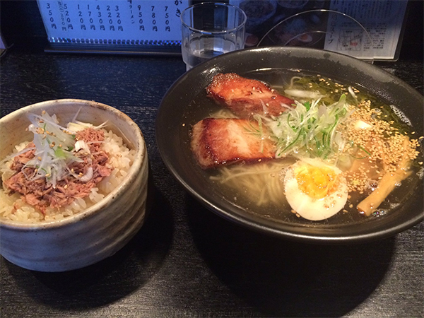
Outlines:
[{"label": "upper browned chashu pork slice, nearest the ramen bowl's back rim", "polygon": [[294,107],[292,99],[280,95],[265,83],[236,73],[218,73],[213,76],[206,92],[210,98],[242,118],[252,114],[279,116]]}]

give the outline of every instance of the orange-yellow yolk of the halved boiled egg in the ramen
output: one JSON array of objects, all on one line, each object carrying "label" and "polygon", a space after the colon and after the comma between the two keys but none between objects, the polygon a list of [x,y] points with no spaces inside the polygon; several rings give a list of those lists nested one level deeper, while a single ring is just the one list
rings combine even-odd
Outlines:
[{"label": "orange-yellow yolk of the halved boiled egg in the ramen", "polygon": [[338,177],[329,167],[302,165],[295,169],[299,189],[314,199],[322,199],[336,191]]}]

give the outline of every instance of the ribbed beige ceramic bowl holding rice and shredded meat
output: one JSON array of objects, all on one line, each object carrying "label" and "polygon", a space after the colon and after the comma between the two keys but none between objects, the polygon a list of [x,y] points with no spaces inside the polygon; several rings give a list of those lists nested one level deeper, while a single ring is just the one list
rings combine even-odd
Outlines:
[{"label": "ribbed beige ceramic bowl holding rice and shredded meat", "polygon": [[[87,100],[50,100],[23,107],[0,119],[0,159],[14,146],[32,140],[25,131],[28,112],[57,114],[60,124],[78,120],[94,125],[107,121],[107,129],[122,136],[136,150],[134,163],[121,184],[104,199],[62,220],[35,224],[1,218],[0,254],[13,264],[35,271],[80,269],[112,256],[139,231],[146,215],[148,155],[139,126],[113,107]],[[1,203],[0,203],[1,204]]]}]

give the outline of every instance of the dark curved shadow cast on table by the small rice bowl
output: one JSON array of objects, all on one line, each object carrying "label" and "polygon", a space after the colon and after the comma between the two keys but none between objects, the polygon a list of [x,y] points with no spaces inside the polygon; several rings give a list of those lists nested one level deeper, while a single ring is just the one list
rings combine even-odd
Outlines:
[{"label": "dark curved shadow cast on table by the small rice bowl", "polygon": [[112,257],[61,273],[28,271],[5,261],[9,273],[28,297],[62,310],[86,310],[124,298],[154,276],[170,249],[171,209],[160,192],[152,192],[143,227]]}]

